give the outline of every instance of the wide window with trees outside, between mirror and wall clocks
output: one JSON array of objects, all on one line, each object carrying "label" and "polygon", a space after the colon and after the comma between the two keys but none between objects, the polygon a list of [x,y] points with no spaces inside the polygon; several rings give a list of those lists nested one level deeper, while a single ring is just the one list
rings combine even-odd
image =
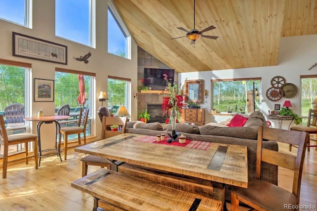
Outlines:
[{"label": "wide window with trees outside, between mirror and wall clocks", "polygon": [[249,113],[260,107],[261,78],[211,80],[212,109],[217,112]]}]

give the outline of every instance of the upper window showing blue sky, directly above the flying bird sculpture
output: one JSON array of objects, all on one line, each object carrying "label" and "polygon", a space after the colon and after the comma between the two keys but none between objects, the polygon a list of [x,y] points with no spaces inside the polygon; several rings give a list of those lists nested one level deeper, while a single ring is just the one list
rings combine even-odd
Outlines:
[{"label": "upper window showing blue sky, directly above the flying bird sculpture", "polygon": [[95,48],[95,0],[55,0],[55,35]]}]

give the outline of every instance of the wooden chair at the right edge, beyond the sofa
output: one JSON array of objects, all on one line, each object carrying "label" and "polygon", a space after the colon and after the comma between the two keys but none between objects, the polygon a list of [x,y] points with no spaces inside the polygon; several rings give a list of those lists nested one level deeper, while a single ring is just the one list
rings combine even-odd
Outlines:
[{"label": "wooden chair at the right edge, beyond the sofa", "polygon": [[[317,142],[316,138],[311,138],[311,135],[317,134],[317,110],[309,109],[307,126],[291,126],[290,130],[304,131],[310,134],[310,138],[307,143],[307,151],[310,152],[311,147],[317,147],[317,145],[311,145],[311,141]],[[292,144],[289,145],[289,151],[292,151]]]}]

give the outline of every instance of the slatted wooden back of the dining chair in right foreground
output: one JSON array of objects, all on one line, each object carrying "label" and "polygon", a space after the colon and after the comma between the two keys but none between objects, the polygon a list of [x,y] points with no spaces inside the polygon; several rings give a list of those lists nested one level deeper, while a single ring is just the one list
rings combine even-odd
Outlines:
[{"label": "slatted wooden back of the dining chair in right foreground", "polygon": [[[299,203],[302,171],[308,139],[309,133],[307,132],[281,130],[259,126],[256,178],[261,178],[261,162],[267,162],[293,170],[294,178],[292,193],[297,197]],[[297,156],[264,149],[262,148],[262,142],[265,140],[298,145]]]}]

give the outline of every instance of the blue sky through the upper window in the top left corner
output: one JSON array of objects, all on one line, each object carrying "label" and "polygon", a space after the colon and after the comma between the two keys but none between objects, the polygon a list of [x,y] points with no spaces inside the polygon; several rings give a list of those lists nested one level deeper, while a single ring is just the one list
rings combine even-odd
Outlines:
[{"label": "blue sky through the upper window in the top left corner", "polygon": [[0,18],[25,25],[25,0],[0,0]]}]

